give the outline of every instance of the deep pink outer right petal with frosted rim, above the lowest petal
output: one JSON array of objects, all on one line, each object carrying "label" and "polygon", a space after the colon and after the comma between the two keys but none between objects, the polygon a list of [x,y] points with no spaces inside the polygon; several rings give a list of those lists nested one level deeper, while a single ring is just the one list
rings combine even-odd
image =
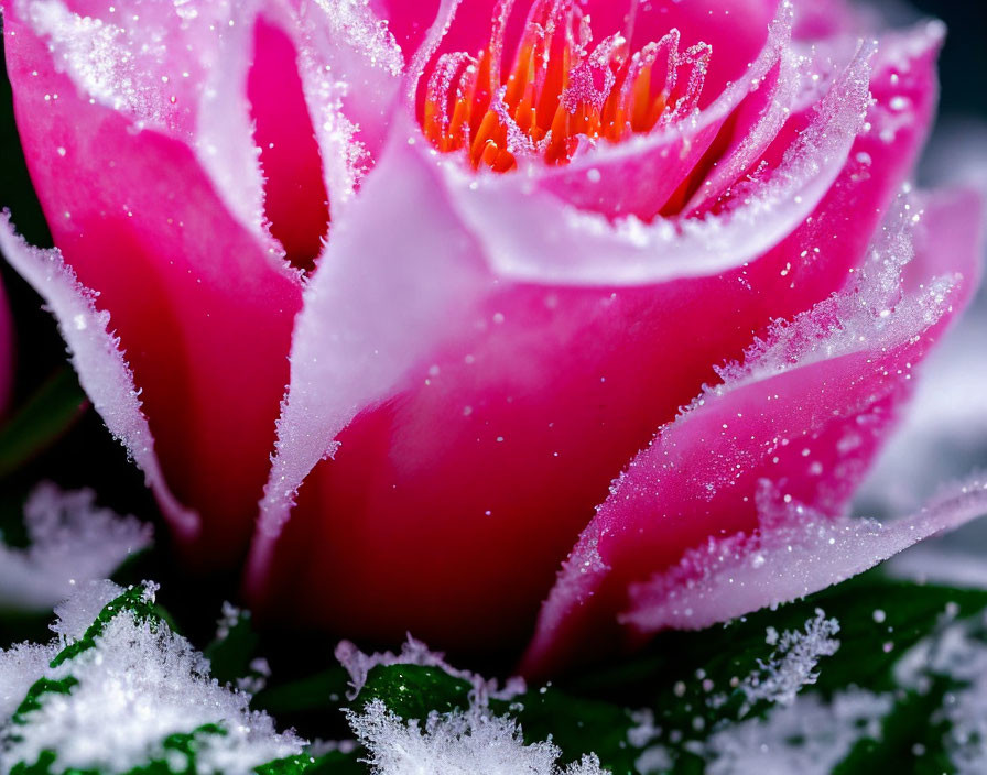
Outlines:
[{"label": "deep pink outer right petal with frosted rim, above the lowest petal", "polygon": [[[898,220],[908,228],[916,215],[905,205]],[[901,265],[911,245],[899,227],[878,244],[863,285],[777,330],[742,368],[726,371],[724,385],[663,427],[566,560],[524,670],[557,668],[574,644],[585,654],[627,643],[615,614],[627,608],[629,587],[711,536],[755,528],[762,480],[785,502],[839,514],[909,393],[913,365],[976,287],[979,220],[975,196],[933,199],[916,261]],[[856,569],[848,564],[848,574]],[[755,608],[778,591],[759,590]],[[640,625],[643,614],[634,619]]]}]

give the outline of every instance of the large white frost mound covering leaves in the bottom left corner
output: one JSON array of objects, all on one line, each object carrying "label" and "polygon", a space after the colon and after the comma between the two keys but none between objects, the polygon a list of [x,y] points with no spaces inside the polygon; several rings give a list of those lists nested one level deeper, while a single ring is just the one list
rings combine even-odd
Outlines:
[{"label": "large white frost mound covering leaves in the bottom left corner", "polygon": [[[212,679],[208,662],[163,622],[121,605],[95,633],[91,645],[75,640],[78,622],[110,591],[123,593],[93,586],[62,607],[55,629],[76,648],[59,655],[67,658],[46,663],[51,646],[0,653],[0,697],[15,695],[24,681],[37,678],[64,687],[41,691],[35,703],[25,701],[15,716],[13,705],[4,701],[0,771],[10,772],[19,762],[30,766],[48,755],[45,752],[54,754],[46,771],[51,773],[122,773],[155,760],[172,766],[182,762],[174,761],[177,752],[166,750],[163,741],[176,734],[194,736],[199,772],[246,775],[301,753],[297,738],[278,734],[270,717],[249,710],[249,696]],[[144,602],[153,599],[153,591],[145,587]]]}]

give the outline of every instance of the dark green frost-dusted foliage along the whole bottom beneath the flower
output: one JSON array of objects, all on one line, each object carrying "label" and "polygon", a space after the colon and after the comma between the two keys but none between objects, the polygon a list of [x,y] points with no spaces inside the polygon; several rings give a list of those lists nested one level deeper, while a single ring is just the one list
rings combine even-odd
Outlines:
[{"label": "dark green frost-dusted foliage along the whole bottom beneath the flower", "polygon": [[[769,719],[779,710],[770,699],[751,698],[745,679],[763,673],[780,655],[779,634],[803,632],[806,622],[825,618],[839,622],[835,636],[840,645],[832,656],[821,656],[815,683],[802,687],[824,703],[855,687],[890,698],[890,708],[857,735],[835,769],[836,775],[869,775],[892,767],[920,775],[954,772],[945,738],[948,721],[940,712],[961,680],[929,672],[916,686],[901,686],[894,667],[918,644],[935,638],[956,622],[976,621],[987,610],[987,591],[956,590],[888,579],[870,572],[814,594],[806,600],[760,611],[727,625],[701,632],[669,632],[643,652],[619,663],[598,665],[563,676],[546,686],[532,686],[509,699],[490,699],[487,712],[518,722],[524,741],[552,740],[563,752],[562,763],[595,753],[614,775],[634,775],[638,761],[659,745],[675,773],[703,773],[708,764],[711,735],[738,723]],[[78,641],[67,645],[52,666],[94,647],[96,638],[117,615],[130,615],[152,626],[169,626],[167,615],[150,601],[142,588],[131,588],[97,615]],[[983,632],[973,636],[987,644]],[[206,648],[217,679],[235,681],[250,675],[259,637],[250,615],[241,613],[220,640]],[[8,728],[30,723],[46,695],[70,695],[70,669],[61,680],[43,678],[31,687]],[[469,680],[441,667],[378,665],[360,692],[346,700],[347,674],[334,667],[308,679],[272,685],[258,694],[253,707],[282,719],[313,716],[341,719],[341,711],[359,713],[371,701],[381,701],[400,718],[424,721],[431,714],[463,712],[476,701]],[[124,774],[72,771],[70,775],[191,775],[196,756],[210,735],[224,735],[220,722],[163,740],[164,755]],[[319,735],[322,736],[322,735]],[[338,736],[338,735],[325,735]],[[791,742],[791,741],[789,741]],[[258,775],[366,774],[361,749],[330,751],[269,762]],[[34,763],[20,763],[11,775],[56,775],[57,755],[43,752]]]}]

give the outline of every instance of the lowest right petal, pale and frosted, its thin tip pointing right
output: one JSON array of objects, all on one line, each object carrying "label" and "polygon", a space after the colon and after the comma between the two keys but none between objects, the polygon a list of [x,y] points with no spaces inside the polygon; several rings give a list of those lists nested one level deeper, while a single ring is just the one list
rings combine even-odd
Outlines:
[{"label": "lowest right petal, pale and frosted, its thin tip pointing right", "polygon": [[872,568],[892,555],[987,514],[987,482],[972,479],[909,516],[876,520],[813,513],[762,482],[758,527],[711,538],[680,563],[633,585],[620,621],[647,634],[699,630],[796,600]]}]

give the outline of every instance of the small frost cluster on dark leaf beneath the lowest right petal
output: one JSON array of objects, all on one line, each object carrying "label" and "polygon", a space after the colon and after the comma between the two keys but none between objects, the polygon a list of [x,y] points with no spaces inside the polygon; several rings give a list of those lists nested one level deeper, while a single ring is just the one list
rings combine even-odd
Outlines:
[{"label": "small frost cluster on dark leaf beneath the lowest right petal", "polygon": [[802,632],[790,630],[782,633],[778,648],[768,662],[758,659],[760,669],[751,673],[740,689],[749,703],[759,700],[791,705],[803,686],[815,684],[818,673],[815,667],[820,657],[833,656],[839,648],[839,641],[833,637],[839,632],[839,622],[826,619],[822,609],[815,610],[815,619],[805,622]]}]

